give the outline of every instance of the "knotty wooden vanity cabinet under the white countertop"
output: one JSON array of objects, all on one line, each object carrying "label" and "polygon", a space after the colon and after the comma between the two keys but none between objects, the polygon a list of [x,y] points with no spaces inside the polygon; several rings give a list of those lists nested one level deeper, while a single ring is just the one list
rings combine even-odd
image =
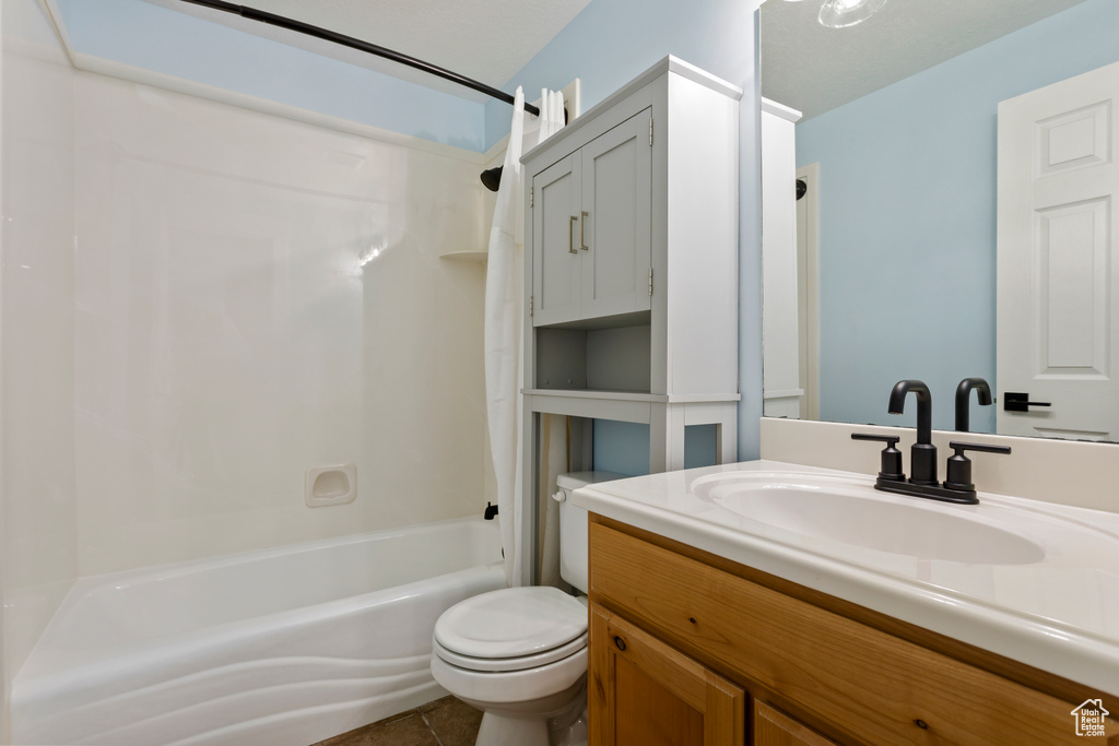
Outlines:
[{"label": "knotty wooden vanity cabinet under the white countertop", "polygon": [[590,746],[1119,746],[1072,716],[1113,692],[599,516],[590,542]]}]

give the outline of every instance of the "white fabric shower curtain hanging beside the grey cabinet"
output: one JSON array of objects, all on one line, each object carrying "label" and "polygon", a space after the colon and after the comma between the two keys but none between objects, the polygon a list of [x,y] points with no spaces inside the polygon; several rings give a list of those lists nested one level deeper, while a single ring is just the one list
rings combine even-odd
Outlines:
[{"label": "white fabric shower curtain hanging beside the grey cabinet", "polygon": [[[549,98],[552,100],[549,102]],[[540,130],[537,142],[557,129],[555,100],[558,98],[560,126],[563,126],[563,96],[544,92],[540,101]],[[520,153],[524,148],[525,94],[514,95],[513,125],[505,153],[501,185],[490,228],[489,259],[486,268],[486,414],[490,450],[497,476],[498,520],[505,548],[505,575],[509,585],[523,579],[524,537],[519,530],[526,509],[521,484],[521,405],[524,366],[520,341],[524,333],[524,174]]]}]

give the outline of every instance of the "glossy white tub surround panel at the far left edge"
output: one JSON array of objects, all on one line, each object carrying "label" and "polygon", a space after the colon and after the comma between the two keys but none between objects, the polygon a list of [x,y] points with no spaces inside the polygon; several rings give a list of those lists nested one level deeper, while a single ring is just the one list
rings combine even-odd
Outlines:
[{"label": "glossy white tub surround panel at the far left edge", "polygon": [[[7,689],[78,575],[79,473],[75,75],[38,3],[3,0],[0,17],[0,668]],[[2,705],[0,742],[11,743]]]}]

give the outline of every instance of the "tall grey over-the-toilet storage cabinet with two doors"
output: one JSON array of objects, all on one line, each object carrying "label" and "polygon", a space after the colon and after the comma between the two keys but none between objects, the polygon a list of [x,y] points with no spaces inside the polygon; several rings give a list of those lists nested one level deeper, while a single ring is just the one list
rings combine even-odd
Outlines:
[{"label": "tall grey over-the-toilet storage cabinet with two doors", "polygon": [[653,472],[683,469],[689,425],[736,459],[741,96],[668,57],[521,159],[529,506],[546,415],[583,419],[575,470],[593,468],[593,419],[648,425]]}]

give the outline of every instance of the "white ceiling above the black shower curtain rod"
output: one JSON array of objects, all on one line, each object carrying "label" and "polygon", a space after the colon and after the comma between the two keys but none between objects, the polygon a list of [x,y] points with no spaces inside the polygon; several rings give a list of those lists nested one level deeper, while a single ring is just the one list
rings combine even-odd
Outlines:
[{"label": "white ceiling above the black shower curtain rod", "polygon": [[[508,83],[591,0],[236,0],[387,47],[493,87]],[[432,75],[338,45],[181,0],[149,0],[251,34],[328,55],[474,101],[487,101]]]}]

